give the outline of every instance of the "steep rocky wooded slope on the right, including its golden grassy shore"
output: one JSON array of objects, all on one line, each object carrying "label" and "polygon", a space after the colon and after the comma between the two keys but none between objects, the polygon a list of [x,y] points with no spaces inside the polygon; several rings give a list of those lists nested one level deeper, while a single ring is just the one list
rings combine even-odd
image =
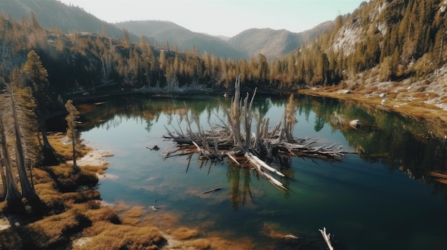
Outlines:
[{"label": "steep rocky wooded slope on the right, including its golden grassy shore", "polygon": [[446,0],[371,0],[295,51],[293,63],[301,82],[333,85],[318,95],[447,122],[446,41]]}]

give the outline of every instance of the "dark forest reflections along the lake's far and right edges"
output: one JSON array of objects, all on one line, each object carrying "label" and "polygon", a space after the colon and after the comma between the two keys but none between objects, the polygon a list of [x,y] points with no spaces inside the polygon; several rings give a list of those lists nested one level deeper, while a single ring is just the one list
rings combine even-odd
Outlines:
[{"label": "dark forest reflections along the lake's far and right edges", "polygon": [[[371,106],[346,103],[331,98],[297,97],[298,125],[299,120],[309,120],[311,113],[315,114],[313,129],[319,132],[325,125],[331,130],[339,130],[346,138],[349,147],[358,150],[366,162],[380,162],[388,167],[390,172],[407,172],[413,179],[432,183],[428,172],[447,169],[447,142],[429,140],[422,135],[431,130],[429,124],[421,123],[411,117],[388,113]],[[283,105],[283,98],[256,98],[254,109],[259,118],[263,118],[273,106]],[[185,106],[186,103],[186,106]],[[94,103],[77,105],[81,111],[81,130],[91,130],[93,127],[103,127],[109,130],[119,126],[126,119],[141,120],[146,131],[151,132],[161,115],[166,115],[166,126],[177,127],[185,115],[206,117],[206,123],[211,124],[214,115],[224,115],[222,109],[228,108],[228,98],[211,95],[153,97],[131,95],[113,100],[99,100]],[[221,117],[222,118],[222,117]],[[225,119],[225,118],[224,118]],[[350,120],[361,120],[362,126],[353,130],[348,126]],[[447,133],[447,132],[446,132]],[[283,157],[277,159],[283,172],[289,172],[292,159]],[[293,178],[293,172],[289,177]],[[436,185],[443,187],[443,185]],[[435,190],[438,192],[439,190]]]}]

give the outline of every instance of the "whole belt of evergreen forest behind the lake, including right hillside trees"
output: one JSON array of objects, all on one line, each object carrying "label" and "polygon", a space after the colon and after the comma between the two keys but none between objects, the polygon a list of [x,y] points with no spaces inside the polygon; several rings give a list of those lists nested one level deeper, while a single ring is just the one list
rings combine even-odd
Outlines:
[{"label": "whole belt of evergreen forest behind the lake, including right hillside trees", "polygon": [[416,81],[441,68],[447,55],[446,6],[440,0],[363,2],[352,14],[338,16],[332,30],[274,60],[261,53],[249,60],[219,58],[194,46],[179,51],[167,42],[156,47],[144,36],[135,43],[126,29],[118,39],[106,31],[47,31],[32,12],[21,21],[0,19],[0,83],[8,83],[13,68],[34,50],[58,94],[105,86],[105,91],[172,85],[219,91],[232,88],[238,74],[242,88],[260,90],[341,85],[360,73],[363,80]]}]

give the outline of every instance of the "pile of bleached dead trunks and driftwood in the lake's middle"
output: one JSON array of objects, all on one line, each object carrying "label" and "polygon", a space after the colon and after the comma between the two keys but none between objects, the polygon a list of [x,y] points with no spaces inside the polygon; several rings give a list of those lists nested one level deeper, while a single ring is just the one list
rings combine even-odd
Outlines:
[{"label": "pile of bleached dead trunks and driftwood in the lake's middle", "polygon": [[296,124],[296,103],[293,101],[293,95],[284,111],[283,119],[271,131],[268,131],[269,119],[264,118],[258,121],[256,132],[252,132],[253,113],[251,110],[256,90],[251,100],[248,94],[241,100],[240,81],[240,77],[236,78],[235,95],[231,100],[231,108],[226,110],[227,121],[221,120],[222,125],[211,127],[211,130],[204,130],[199,118],[193,115],[192,119],[197,125],[196,132],[193,132],[191,120],[186,115],[186,132],[175,128],[174,131],[169,131],[166,127],[168,132],[165,137],[177,142],[181,152],[179,154],[167,152],[166,157],[200,152],[201,157],[211,161],[219,162],[228,157],[236,165],[249,162],[262,177],[268,179],[276,187],[287,190],[271,173],[278,177],[284,177],[284,175],[269,166],[266,161],[271,161],[273,157],[281,155],[340,160],[349,153],[341,150],[341,145],[336,147],[335,143],[315,146],[318,139],[293,137],[293,125]]}]

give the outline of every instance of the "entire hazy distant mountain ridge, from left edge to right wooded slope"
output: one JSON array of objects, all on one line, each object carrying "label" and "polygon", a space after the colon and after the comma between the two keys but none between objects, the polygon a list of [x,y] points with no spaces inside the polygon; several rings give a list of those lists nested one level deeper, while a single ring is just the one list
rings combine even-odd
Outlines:
[{"label": "entire hazy distant mountain ridge, from left edge to right wooded slope", "polygon": [[[197,33],[170,21],[126,21],[109,24],[101,21],[78,6],[67,6],[56,0],[0,0],[0,11],[12,19],[29,19],[33,11],[39,24],[51,30],[59,28],[63,33],[89,31],[106,33],[112,38],[123,38],[124,29],[129,31],[129,39],[138,42],[143,35],[154,46],[181,50],[193,47],[200,53],[232,59],[250,58],[263,53],[266,58],[278,58],[298,48],[304,41],[311,41],[323,30],[331,26],[316,26],[309,31],[292,33],[270,28],[252,28],[231,38]],[[331,21],[330,21],[331,23]]]}]

